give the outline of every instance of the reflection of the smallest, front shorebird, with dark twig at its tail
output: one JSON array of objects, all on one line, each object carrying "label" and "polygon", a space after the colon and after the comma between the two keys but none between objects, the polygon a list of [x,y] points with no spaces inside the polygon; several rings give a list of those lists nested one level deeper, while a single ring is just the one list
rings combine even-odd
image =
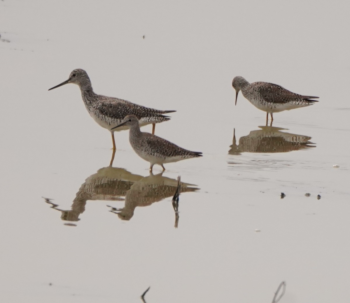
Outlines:
[{"label": "reflection of the smallest, front shorebird, with dark twig at its tail", "polygon": [[198,188],[192,187],[193,184],[180,182],[180,177],[170,179],[160,174],[140,179],[133,183],[125,196],[125,205],[123,208],[111,207],[111,212],[118,215],[122,220],[130,220],[134,215],[134,210],[138,206],[148,206],[154,202],[162,201],[168,197],[173,197],[173,208],[175,211],[175,228],[179,223],[179,194],[194,192]]}]

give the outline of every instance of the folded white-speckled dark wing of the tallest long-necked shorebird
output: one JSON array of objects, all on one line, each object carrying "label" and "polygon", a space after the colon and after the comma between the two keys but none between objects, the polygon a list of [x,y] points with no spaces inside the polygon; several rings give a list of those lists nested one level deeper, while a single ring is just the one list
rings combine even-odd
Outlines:
[{"label": "folded white-speckled dark wing of the tallest long-necked shorebird", "polygon": [[158,110],[144,107],[126,100],[99,95],[98,109],[106,116],[123,119],[127,115],[142,117],[161,116],[176,110]]}]

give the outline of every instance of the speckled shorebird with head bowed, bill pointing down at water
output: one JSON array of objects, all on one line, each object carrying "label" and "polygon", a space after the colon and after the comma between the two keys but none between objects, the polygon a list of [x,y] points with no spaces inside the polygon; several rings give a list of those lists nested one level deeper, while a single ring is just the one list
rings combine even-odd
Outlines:
[{"label": "speckled shorebird with head bowed, bill pointing down at water", "polygon": [[288,91],[282,86],[268,82],[249,83],[240,76],[233,78],[232,87],[236,90],[235,105],[237,104],[238,92],[242,91],[243,96],[256,108],[266,111],[266,123],[268,120],[268,113],[271,115],[272,123],[272,113],[305,107],[312,105],[314,102],[318,102],[317,100],[309,100],[318,97],[298,95]]}]

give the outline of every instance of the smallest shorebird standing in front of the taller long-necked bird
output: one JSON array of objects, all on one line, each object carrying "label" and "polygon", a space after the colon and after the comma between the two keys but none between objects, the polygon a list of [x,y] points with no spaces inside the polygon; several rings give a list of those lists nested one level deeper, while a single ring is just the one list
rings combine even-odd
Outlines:
[{"label": "smallest shorebird standing in front of the taller long-necked bird", "polygon": [[202,156],[201,152],[189,151],[148,132],[141,132],[135,115],[126,116],[123,123],[113,127],[112,130],[123,126],[130,128],[129,141],[131,147],[142,159],[151,164],[149,167],[151,172],[154,164],[161,165],[163,171],[165,171],[164,163]]}]

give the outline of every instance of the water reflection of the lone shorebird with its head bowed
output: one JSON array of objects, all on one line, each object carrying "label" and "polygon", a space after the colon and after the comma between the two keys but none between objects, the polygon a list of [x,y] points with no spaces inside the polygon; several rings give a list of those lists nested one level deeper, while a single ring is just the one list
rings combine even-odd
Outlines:
[{"label": "water reflection of the lone shorebird with its head bowed", "polygon": [[229,154],[239,155],[242,152],[277,153],[316,147],[310,142],[311,137],[283,132],[285,128],[259,126],[259,130],[252,130],[249,135],[240,137],[236,143],[235,129]]}]

